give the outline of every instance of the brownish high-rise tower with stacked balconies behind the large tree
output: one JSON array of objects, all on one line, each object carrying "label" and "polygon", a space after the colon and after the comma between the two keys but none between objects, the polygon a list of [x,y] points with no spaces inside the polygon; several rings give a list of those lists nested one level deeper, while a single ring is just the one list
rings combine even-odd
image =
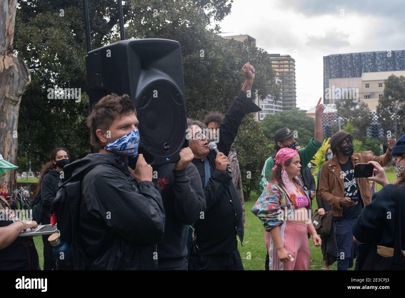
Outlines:
[{"label": "brownish high-rise tower with stacked balconies behind the large tree", "polygon": [[282,81],[283,110],[291,110],[296,106],[295,60],[290,55],[280,54],[269,54],[269,58],[276,79]]}]

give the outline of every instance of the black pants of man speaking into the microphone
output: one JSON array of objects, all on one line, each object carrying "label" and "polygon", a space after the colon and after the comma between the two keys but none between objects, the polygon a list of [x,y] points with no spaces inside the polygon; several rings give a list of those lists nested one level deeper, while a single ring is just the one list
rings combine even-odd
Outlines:
[{"label": "black pants of man speaking into the microphone", "polygon": [[239,251],[230,253],[215,253],[212,255],[196,255],[192,253],[189,260],[189,270],[243,270]]}]

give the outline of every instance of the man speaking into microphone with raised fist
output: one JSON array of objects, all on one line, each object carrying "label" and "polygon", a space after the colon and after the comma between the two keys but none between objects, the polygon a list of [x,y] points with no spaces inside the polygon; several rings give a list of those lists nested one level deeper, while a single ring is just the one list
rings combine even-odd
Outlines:
[{"label": "man speaking into microphone with raised fist", "polygon": [[238,192],[227,171],[226,158],[237,136],[243,117],[261,111],[250,96],[255,69],[249,62],[243,68],[245,83],[220,124],[217,145],[220,153],[208,148],[206,129],[200,121],[188,120],[192,163],[196,166],[204,186],[206,209],[194,225],[189,260],[190,270],[243,270],[238,251],[237,236],[243,242],[242,206]]}]

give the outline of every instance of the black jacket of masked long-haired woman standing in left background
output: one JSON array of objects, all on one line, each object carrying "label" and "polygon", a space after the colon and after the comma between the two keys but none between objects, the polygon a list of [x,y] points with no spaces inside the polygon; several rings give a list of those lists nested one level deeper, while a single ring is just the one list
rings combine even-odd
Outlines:
[{"label": "black jacket of masked long-haired woman standing in left background", "polygon": [[[41,182],[41,202],[43,204],[43,214],[48,218],[51,217],[49,211],[51,210],[52,202],[58,192],[58,185],[60,181],[60,172],[55,169],[47,170]],[[44,218],[43,218],[44,220]],[[46,220],[44,220],[47,222]]]}]

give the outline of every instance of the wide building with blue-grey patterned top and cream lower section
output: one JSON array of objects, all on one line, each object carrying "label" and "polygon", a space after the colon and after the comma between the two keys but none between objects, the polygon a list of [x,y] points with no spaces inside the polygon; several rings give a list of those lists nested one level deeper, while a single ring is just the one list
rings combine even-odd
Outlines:
[{"label": "wide building with blue-grey patterned top and cream lower section", "polygon": [[[352,92],[353,89],[356,92],[356,88],[359,88],[358,92],[360,89],[363,90],[358,99],[364,100],[364,102],[371,100],[371,96],[381,96],[383,90],[381,81],[398,70],[405,70],[405,50],[324,56],[324,104],[333,104],[336,99],[339,99],[339,94],[343,94],[347,90]],[[366,73],[375,72],[384,73],[378,76],[366,75]],[[368,81],[378,81],[376,82],[379,84],[377,88],[380,89],[368,92],[366,84],[371,87]],[[338,98],[335,94],[338,94]],[[371,100],[369,107],[375,107],[375,103],[375,100]]]}]

